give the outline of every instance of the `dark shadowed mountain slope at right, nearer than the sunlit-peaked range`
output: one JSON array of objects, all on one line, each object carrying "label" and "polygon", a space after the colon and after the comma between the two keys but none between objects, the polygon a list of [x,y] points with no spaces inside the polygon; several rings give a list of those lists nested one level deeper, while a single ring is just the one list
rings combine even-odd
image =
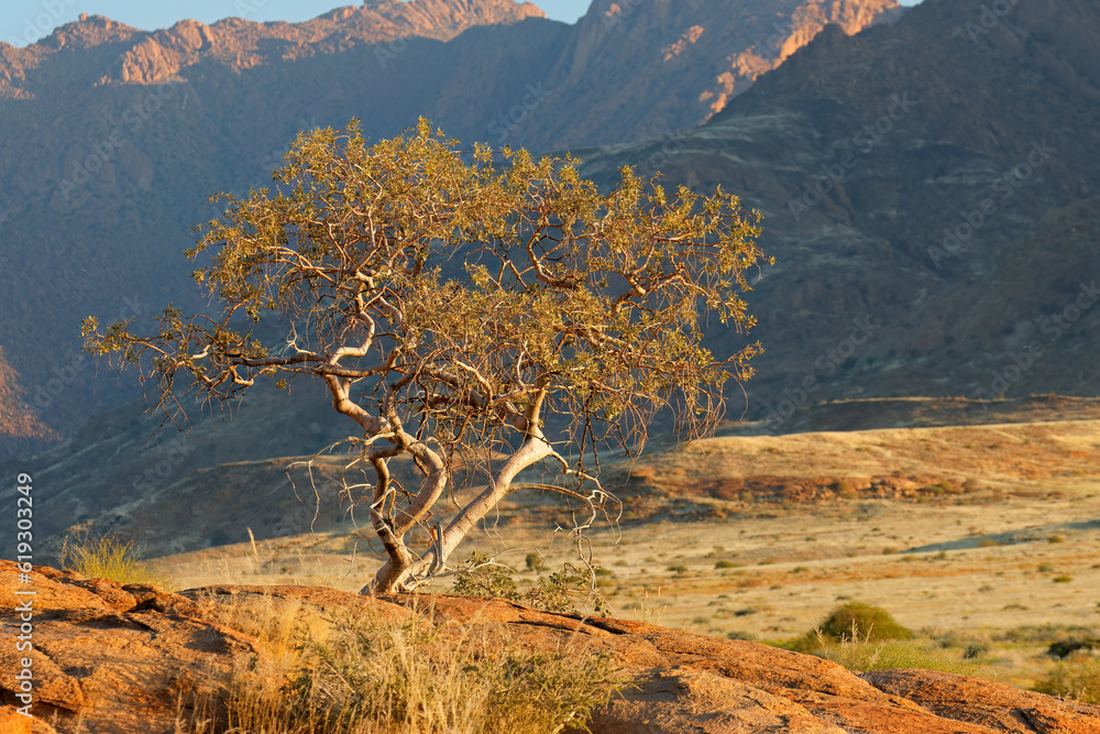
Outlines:
[{"label": "dark shadowed mountain slope at right, nearer than the sunlit-peaked range", "polygon": [[837,397],[1094,395],[1098,53],[1094,4],[926,0],[827,28],[671,143],[582,151],[584,173],[659,167],[763,212],[748,415],[777,429]]}]

